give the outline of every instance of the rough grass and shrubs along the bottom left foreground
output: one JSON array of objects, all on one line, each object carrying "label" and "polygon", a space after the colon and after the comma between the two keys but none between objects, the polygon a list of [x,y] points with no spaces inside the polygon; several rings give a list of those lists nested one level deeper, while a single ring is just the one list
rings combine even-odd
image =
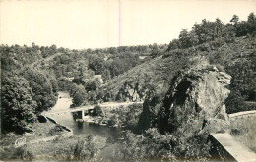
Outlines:
[{"label": "rough grass and shrubs along the bottom left foreground", "polygon": [[42,160],[42,161],[79,161],[100,160],[100,149],[105,146],[106,138],[76,135],[67,138],[58,137],[52,141],[27,143],[21,147],[1,150],[4,161]]}]

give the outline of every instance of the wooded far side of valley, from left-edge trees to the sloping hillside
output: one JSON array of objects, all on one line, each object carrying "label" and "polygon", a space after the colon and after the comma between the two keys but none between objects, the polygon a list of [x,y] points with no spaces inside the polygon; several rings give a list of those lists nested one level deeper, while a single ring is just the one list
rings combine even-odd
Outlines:
[{"label": "wooded far side of valley, from left-edge trees to the sloping hillside", "polygon": [[35,43],[1,45],[3,133],[29,131],[35,116],[56,103],[58,90],[70,92],[73,106],[97,103],[103,82],[166,48],[166,44],[153,44],[79,51]]}]

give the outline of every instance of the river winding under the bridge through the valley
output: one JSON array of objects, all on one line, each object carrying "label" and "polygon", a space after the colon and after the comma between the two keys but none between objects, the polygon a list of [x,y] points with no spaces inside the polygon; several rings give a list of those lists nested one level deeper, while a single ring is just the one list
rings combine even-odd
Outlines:
[{"label": "river winding under the bridge through the valley", "polygon": [[[69,110],[72,104],[72,98],[67,92],[59,91],[59,96],[56,105],[47,113],[59,112]],[[50,118],[54,119],[57,123],[67,126],[73,130],[74,135],[83,136],[86,135],[99,135],[107,138],[106,147],[101,150],[100,156],[103,158],[112,157],[112,152],[118,146],[118,138],[122,137],[122,130],[118,128],[109,128],[106,126],[100,126],[89,123],[76,122],[72,113],[59,113],[51,114]]]}]

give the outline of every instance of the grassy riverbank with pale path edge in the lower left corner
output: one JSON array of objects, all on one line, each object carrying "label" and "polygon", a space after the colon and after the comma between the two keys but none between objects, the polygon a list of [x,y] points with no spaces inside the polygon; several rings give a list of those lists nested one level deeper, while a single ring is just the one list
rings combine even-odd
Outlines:
[{"label": "grassy riverbank with pale path edge in the lower left corner", "polygon": [[36,149],[43,149],[43,145],[47,145],[47,143],[51,145],[47,150],[50,148],[57,149],[52,144],[54,140],[63,138],[64,143],[65,138],[73,135],[72,130],[50,121],[45,123],[36,121],[31,129],[32,133],[25,133],[24,135],[13,133],[1,135],[1,160],[24,160],[24,158],[31,160],[30,158],[35,158],[42,152],[42,150],[36,151]]}]

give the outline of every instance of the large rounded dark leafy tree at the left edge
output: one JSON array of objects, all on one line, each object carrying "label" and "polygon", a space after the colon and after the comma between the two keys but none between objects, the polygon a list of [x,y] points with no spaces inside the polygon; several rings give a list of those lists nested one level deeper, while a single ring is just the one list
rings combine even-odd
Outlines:
[{"label": "large rounded dark leafy tree at the left edge", "polygon": [[34,122],[36,102],[23,77],[7,76],[2,81],[2,130],[23,134]]}]

